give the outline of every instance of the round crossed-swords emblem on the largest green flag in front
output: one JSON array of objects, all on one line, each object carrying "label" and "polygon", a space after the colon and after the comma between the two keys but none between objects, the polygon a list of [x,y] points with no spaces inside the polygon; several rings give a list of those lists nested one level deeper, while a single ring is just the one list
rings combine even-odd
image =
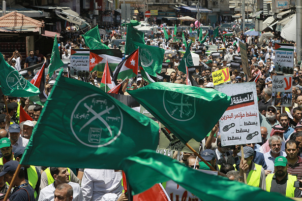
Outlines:
[{"label": "round crossed-swords emblem on the largest green flag in front", "polygon": [[70,128],[83,145],[104,147],[119,137],[123,128],[123,114],[107,97],[97,93],[87,95],[75,106]]}]

